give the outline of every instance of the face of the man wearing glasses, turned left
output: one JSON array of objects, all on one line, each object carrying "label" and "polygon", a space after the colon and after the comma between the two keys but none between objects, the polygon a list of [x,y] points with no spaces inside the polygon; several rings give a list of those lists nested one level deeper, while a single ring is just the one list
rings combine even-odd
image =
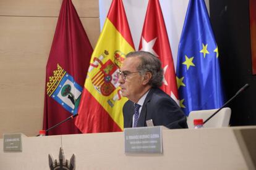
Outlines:
[{"label": "face of the man wearing glasses, turned left", "polygon": [[129,57],[124,60],[120,68],[120,71],[126,75],[125,79],[119,76],[119,86],[121,87],[122,96],[127,97],[132,102],[138,102],[141,97],[140,93],[144,88],[142,76],[140,76],[137,70],[140,62],[139,57]]}]

